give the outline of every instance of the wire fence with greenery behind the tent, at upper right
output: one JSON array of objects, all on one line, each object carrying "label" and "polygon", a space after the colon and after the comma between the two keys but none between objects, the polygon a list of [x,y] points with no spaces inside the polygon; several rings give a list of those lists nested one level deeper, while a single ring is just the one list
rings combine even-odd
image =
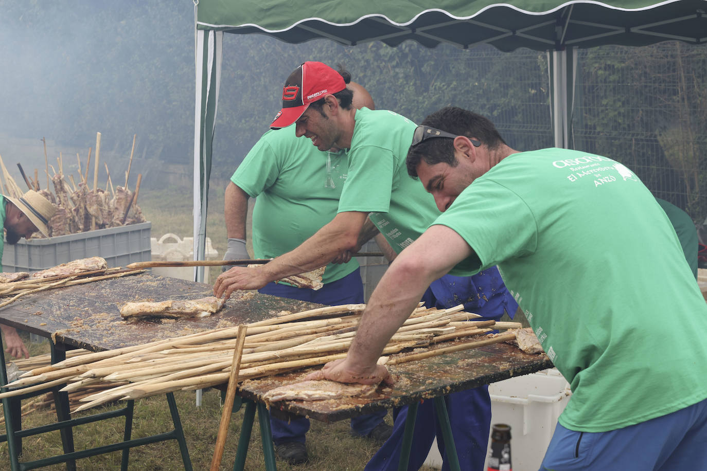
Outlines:
[{"label": "wire fence with greenery behind the tent, at upper right", "polygon": [[[580,49],[572,129],[574,148],[633,169],[654,196],[707,217],[707,49],[679,42]],[[483,109],[519,150],[553,145],[547,54],[491,47],[449,54],[493,77]],[[492,73],[503,63],[506,74]],[[473,84],[471,84],[473,85]],[[478,97],[477,97],[478,99]]]}]

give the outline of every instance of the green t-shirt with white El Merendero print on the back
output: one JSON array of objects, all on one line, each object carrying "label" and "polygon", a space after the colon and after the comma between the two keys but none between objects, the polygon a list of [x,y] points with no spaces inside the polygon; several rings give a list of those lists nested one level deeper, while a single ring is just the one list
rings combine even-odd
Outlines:
[{"label": "green t-shirt with white El Merendero print on the back", "polygon": [[707,398],[707,304],[665,212],[624,165],[513,154],[435,224],[476,252],[462,273],[498,265],[571,383],[564,427],[619,429]]}]

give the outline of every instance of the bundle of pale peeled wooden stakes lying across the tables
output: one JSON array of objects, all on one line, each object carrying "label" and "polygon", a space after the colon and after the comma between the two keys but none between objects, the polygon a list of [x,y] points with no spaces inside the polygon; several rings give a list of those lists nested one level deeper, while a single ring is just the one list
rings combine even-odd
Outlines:
[{"label": "bundle of pale peeled wooden stakes lying across the tables", "polygon": [[[327,306],[280,315],[246,324],[247,336],[238,381],[262,378],[307,366],[317,366],[346,356],[365,304]],[[491,329],[518,328],[520,323],[472,321],[477,314],[452,309],[419,306],[393,335],[383,354],[431,347],[447,340],[473,338]],[[207,330],[179,338],[158,340],[117,350],[82,354],[52,366],[35,368],[8,384],[19,388],[0,398],[66,383],[71,392],[95,383],[128,384],[102,390],[83,398],[73,412],[114,400],[145,398],[175,390],[193,390],[226,383],[230,375],[238,327]],[[503,342],[512,333],[496,338],[461,342],[452,347],[392,358],[388,364]],[[34,386],[30,386],[34,385]],[[27,386],[27,387],[23,387]]]}]

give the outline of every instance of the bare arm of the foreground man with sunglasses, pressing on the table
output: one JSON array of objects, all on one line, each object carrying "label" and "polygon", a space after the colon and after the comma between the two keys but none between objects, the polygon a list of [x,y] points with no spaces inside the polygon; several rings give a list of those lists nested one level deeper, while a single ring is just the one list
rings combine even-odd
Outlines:
[{"label": "bare arm of the foreground man with sunglasses, pressing on the table", "polygon": [[308,379],[342,383],[392,383],[385,366],[376,362],[397,329],[417,306],[431,282],[473,254],[452,229],[434,225],[404,249],[387,269],[370,297],[356,337],[345,359],[328,363]]}]

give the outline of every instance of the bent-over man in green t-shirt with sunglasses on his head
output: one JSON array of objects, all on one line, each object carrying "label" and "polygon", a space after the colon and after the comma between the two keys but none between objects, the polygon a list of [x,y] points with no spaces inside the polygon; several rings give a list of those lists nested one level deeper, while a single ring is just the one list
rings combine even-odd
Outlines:
[{"label": "bent-over man in green t-shirt with sunglasses on his head", "polygon": [[375,361],[430,280],[497,265],[573,392],[542,470],[707,463],[707,304],[636,174],[576,150],[518,152],[456,107],[423,125],[408,172],[443,214],[387,270],[346,359],[309,378],[390,382]]}]

